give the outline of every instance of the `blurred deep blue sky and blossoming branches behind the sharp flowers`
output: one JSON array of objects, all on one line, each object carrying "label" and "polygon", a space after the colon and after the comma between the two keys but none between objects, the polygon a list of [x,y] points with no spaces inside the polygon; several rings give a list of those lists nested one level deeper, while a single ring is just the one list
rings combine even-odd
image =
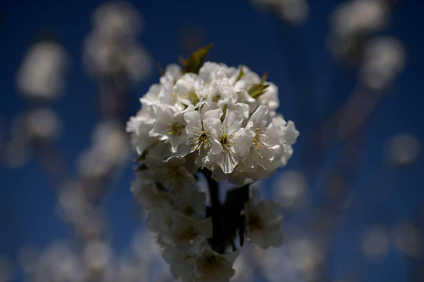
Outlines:
[{"label": "blurred deep blue sky and blossoming branches behind the sharp flowers", "polygon": [[423,15],[422,0],[3,0],[0,282],[174,281],[129,191],[125,122],[156,63],[211,42],[207,60],[268,71],[301,133],[256,184],[285,244],[245,244],[232,281],[424,281]]}]

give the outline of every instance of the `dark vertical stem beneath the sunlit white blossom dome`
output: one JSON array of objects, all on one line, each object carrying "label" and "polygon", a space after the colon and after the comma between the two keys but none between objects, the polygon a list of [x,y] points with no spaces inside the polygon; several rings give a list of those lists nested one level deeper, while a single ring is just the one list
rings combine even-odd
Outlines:
[{"label": "dark vertical stem beneath the sunlit white blossom dome", "polygon": [[220,246],[219,236],[220,236],[220,207],[221,203],[219,202],[219,188],[218,183],[211,178],[212,172],[206,168],[201,170],[206,180],[208,181],[209,186],[209,195],[211,198],[212,204],[212,239],[210,240],[212,249],[216,252],[223,253],[224,247]]}]

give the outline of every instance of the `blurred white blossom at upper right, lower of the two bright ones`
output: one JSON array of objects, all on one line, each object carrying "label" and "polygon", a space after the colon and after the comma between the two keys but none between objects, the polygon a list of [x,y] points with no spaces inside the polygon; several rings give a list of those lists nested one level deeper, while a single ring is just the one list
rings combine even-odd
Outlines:
[{"label": "blurred white blossom at upper right, lower of the two bright ones", "polygon": [[403,70],[405,50],[396,38],[384,36],[365,43],[360,79],[371,90],[384,90]]}]

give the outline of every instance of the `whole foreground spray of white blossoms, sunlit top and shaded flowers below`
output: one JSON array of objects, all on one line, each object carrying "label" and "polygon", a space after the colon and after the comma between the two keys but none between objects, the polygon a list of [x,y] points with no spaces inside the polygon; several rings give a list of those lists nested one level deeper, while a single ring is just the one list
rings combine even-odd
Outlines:
[{"label": "whole foreground spray of white blossoms, sunlit top and shaded flowers below", "polygon": [[[149,211],[148,226],[172,274],[190,282],[229,281],[240,252],[234,234],[240,246],[245,235],[263,248],[282,243],[279,205],[259,200],[246,184],[285,166],[299,135],[276,114],[278,89],[266,75],[203,63],[209,48],[194,52],[183,68],[167,66],[127,123],[139,154],[131,191]],[[210,186],[207,210],[199,170]],[[230,190],[216,209],[212,190],[223,180],[244,186]],[[220,219],[229,226],[215,224]]]}]

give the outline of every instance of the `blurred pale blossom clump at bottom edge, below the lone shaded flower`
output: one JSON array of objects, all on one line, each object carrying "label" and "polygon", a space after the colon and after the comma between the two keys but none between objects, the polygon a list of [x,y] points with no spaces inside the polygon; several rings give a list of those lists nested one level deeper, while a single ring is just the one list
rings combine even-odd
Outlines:
[{"label": "blurred pale blossom clump at bottom edge, below the lone shaded flower", "polygon": [[317,281],[325,253],[318,241],[307,237],[288,238],[279,248],[263,251],[259,258],[262,274],[271,282]]}]

